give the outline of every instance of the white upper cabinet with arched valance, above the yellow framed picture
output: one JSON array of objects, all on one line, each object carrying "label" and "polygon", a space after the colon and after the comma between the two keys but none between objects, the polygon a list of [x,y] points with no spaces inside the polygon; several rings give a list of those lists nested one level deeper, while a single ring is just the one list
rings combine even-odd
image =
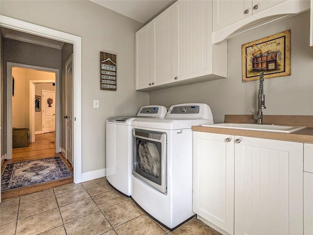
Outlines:
[{"label": "white upper cabinet with arched valance, above the yellow framed picture", "polygon": [[310,9],[310,0],[213,0],[213,43]]}]

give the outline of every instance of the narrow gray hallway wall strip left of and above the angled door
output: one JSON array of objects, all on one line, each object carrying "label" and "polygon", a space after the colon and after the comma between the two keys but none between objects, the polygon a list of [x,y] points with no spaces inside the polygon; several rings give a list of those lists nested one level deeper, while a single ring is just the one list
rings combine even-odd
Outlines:
[{"label": "narrow gray hallway wall strip left of and above the angled door", "polygon": [[61,123],[64,128],[62,128],[62,141],[61,141],[61,147],[65,150],[65,144],[66,144],[66,122],[64,116],[66,116],[66,103],[65,103],[65,63],[67,62],[67,59],[69,56],[73,53],[73,45],[72,44],[64,44],[62,47],[62,97],[61,97],[61,103],[62,103],[62,114],[61,114]]}]

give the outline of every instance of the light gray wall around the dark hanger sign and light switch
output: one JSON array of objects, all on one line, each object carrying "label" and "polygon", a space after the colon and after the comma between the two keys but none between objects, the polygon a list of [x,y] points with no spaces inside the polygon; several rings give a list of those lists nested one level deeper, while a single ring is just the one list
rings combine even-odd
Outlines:
[{"label": "light gray wall around the dark hanger sign and light switch", "polygon": [[[105,168],[106,118],[135,115],[149,104],[149,93],[135,91],[135,32],[142,24],[88,0],[1,1],[0,14],[82,37],[82,172]],[[117,55],[116,92],[100,90],[100,51]]]}]

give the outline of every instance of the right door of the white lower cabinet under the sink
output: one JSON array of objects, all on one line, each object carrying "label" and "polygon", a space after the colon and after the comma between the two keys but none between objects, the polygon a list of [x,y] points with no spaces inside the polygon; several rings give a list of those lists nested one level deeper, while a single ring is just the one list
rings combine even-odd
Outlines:
[{"label": "right door of the white lower cabinet under the sink", "polygon": [[235,136],[235,234],[303,234],[303,143]]}]

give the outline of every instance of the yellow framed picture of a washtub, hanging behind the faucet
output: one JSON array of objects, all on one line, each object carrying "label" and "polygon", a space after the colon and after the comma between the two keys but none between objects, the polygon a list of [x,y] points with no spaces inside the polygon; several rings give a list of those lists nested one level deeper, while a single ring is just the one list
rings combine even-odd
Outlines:
[{"label": "yellow framed picture of a washtub, hanging behind the faucet", "polygon": [[243,82],[290,75],[290,30],[242,45],[242,70]]}]

